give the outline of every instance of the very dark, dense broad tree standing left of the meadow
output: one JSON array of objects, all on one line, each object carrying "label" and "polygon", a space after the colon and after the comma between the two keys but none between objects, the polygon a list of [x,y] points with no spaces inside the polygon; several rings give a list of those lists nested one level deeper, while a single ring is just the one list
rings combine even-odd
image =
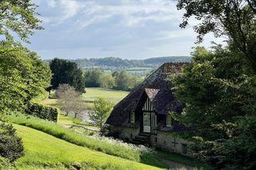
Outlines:
[{"label": "very dark, dense broad tree standing left of the meadow", "polygon": [[50,89],[57,89],[60,84],[67,83],[75,90],[85,92],[85,80],[78,65],[65,59],[53,59],[50,61],[50,70],[54,73]]}]

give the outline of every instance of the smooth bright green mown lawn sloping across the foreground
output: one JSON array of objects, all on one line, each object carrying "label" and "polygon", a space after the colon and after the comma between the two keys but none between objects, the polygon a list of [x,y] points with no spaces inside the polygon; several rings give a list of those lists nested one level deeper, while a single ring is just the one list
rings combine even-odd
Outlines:
[{"label": "smooth bright green mown lawn sloping across the foreground", "polygon": [[[64,165],[88,165],[90,168],[157,169],[149,165],[106,155],[99,151],[73,145],[41,131],[14,124],[25,146],[25,156],[16,162],[18,168],[64,168]],[[77,162],[77,163],[74,163]]]}]

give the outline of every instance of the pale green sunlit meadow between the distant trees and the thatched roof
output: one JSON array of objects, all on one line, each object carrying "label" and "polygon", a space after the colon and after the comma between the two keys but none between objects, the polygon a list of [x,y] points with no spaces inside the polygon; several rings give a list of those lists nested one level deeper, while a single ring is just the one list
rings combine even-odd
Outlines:
[{"label": "pale green sunlit meadow between the distant trees and the thatched roof", "polygon": [[103,97],[107,100],[111,100],[115,104],[122,100],[124,97],[126,97],[128,93],[130,93],[128,91],[111,90],[99,87],[88,87],[85,88],[85,90],[86,93],[83,94],[83,98],[86,101],[93,101],[98,97]]}]

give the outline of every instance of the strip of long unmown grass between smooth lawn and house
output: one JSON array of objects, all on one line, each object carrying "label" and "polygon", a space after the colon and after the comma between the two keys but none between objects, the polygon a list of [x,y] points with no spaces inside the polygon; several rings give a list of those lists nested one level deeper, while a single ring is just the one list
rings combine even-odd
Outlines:
[{"label": "strip of long unmown grass between smooth lawn and house", "polygon": [[14,124],[24,125],[29,128],[34,128],[39,131],[43,131],[47,134],[51,134],[56,138],[63,139],[64,141],[71,142],[72,144],[79,145],[86,148],[91,148],[95,151],[101,151],[109,155],[115,155],[120,158],[126,158],[135,162],[143,162],[149,165],[155,165],[164,168],[162,162],[150,153],[147,148],[139,148],[135,145],[128,145],[115,140],[107,140],[106,138],[93,138],[84,134],[79,134],[74,131],[68,130],[62,127],[60,124],[56,124],[50,121],[43,121],[36,117],[29,117],[18,114],[18,116],[10,115],[9,121]]}]

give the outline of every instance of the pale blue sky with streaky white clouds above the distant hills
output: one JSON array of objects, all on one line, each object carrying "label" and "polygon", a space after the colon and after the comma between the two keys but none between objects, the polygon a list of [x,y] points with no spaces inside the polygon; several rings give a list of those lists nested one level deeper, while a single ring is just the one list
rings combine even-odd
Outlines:
[{"label": "pale blue sky with streaky white clouds above the distant hills", "polygon": [[[174,0],[33,0],[44,30],[24,45],[43,59],[145,59],[189,56],[195,46],[192,26],[181,29],[184,11]],[[222,42],[206,36],[200,46]]]}]

